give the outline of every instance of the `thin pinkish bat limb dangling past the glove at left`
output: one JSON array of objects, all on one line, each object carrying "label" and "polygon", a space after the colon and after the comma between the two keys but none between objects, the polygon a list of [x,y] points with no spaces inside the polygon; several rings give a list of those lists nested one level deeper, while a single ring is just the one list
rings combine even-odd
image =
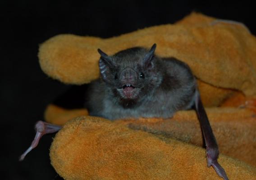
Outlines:
[{"label": "thin pinkish bat limb dangling past the glove at left", "polygon": [[36,136],[29,148],[27,148],[27,150],[20,156],[19,161],[23,161],[27,153],[29,153],[33,148],[37,147],[37,144],[43,135],[57,132],[61,129],[61,126],[50,124],[44,121],[38,121],[35,125],[35,129],[37,131]]}]

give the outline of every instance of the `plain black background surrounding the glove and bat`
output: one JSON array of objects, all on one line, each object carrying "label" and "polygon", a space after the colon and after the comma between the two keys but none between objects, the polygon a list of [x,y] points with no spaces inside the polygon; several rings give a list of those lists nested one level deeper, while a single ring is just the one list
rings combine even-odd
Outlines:
[{"label": "plain black background surrounding the glove and bat", "polygon": [[34,123],[43,119],[46,105],[70,88],[41,71],[37,58],[40,43],[61,33],[118,36],[175,23],[192,11],[242,22],[256,34],[256,10],[250,1],[0,1],[0,179],[61,179],[48,155],[54,135],[46,135],[23,162],[18,162],[35,135]]}]

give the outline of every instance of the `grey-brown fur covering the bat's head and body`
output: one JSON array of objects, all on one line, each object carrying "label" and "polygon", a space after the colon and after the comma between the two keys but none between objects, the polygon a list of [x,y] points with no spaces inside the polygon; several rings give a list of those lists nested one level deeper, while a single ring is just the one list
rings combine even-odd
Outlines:
[{"label": "grey-brown fur covering the bat's head and body", "polygon": [[[168,118],[178,110],[192,107],[197,88],[187,64],[175,58],[160,58],[156,55],[146,59],[150,57],[147,54],[149,50],[142,47],[126,49],[109,56],[112,65],[104,61],[105,57],[101,57],[101,67],[105,63],[104,72],[100,79],[91,83],[87,94],[89,99],[86,107],[90,115],[111,120],[129,117]],[[132,73],[129,83],[136,88],[131,99],[122,94],[121,87],[125,80],[122,79],[123,75],[119,76],[126,69]],[[140,72],[145,74],[144,79],[139,78]]]}]

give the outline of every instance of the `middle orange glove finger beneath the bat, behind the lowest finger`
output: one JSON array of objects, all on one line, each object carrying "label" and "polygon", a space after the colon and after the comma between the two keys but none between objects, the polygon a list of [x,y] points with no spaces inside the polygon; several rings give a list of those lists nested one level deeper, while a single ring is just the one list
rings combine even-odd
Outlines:
[{"label": "middle orange glove finger beneath the bat, behind the lowest finger", "polygon": [[[52,105],[51,105],[52,106]],[[56,107],[55,107],[56,108]],[[52,108],[54,111],[55,108]],[[49,106],[48,109],[51,109]],[[60,109],[60,108],[58,108]],[[77,110],[47,112],[55,114],[49,122],[61,125],[59,122],[68,121],[69,116],[79,116]],[[82,109],[81,109],[81,112]],[[84,115],[87,115],[84,110]],[[227,156],[237,158],[256,166],[256,113],[248,108],[206,108],[213,132],[219,145],[219,151]],[[167,139],[176,139],[203,147],[201,128],[196,113],[179,111],[173,118],[139,118],[114,121],[130,129],[143,130]],[[64,122],[63,122],[64,123]]]}]

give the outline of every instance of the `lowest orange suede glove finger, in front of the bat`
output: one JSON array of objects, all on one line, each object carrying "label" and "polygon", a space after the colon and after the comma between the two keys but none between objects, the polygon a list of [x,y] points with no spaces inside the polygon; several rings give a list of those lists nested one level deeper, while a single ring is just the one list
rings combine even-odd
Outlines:
[{"label": "lowest orange suede glove finger, in front of the bat", "polygon": [[[56,135],[51,163],[66,180],[221,180],[205,149],[131,130],[98,117],[78,117]],[[256,168],[220,155],[230,180],[254,180]]]}]

